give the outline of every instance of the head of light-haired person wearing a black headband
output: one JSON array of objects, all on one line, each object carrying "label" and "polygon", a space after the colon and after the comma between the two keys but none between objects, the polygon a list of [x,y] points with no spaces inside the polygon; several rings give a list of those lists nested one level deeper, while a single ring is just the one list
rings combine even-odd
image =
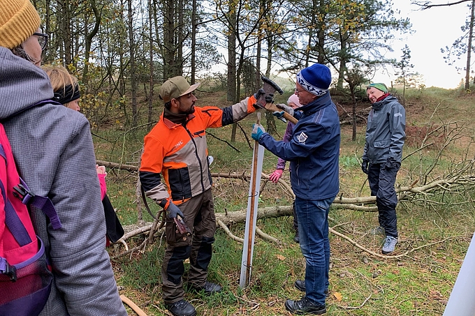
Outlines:
[{"label": "head of light-haired person wearing a black headband", "polygon": [[54,91],[53,100],[61,103],[71,110],[79,111],[79,91],[78,79],[71,75],[63,66],[45,65],[41,66],[48,77]]}]

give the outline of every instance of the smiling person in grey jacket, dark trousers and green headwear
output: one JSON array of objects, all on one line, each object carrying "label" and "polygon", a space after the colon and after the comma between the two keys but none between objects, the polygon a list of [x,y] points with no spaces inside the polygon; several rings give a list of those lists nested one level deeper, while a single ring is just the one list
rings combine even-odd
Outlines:
[{"label": "smiling person in grey jacket, dark trousers and green headwear", "polygon": [[406,139],[406,111],[382,83],[367,86],[372,103],[366,128],[361,169],[368,175],[371,195],[376,196],[379,227],[386,239],[381,252],[392,253],[397,244],[396,175],[401,167],[402,146]]}]

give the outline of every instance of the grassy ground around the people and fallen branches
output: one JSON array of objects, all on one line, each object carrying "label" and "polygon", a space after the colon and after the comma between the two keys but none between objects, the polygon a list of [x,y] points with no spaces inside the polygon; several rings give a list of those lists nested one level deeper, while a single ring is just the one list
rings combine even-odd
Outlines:
[{"label": "grassy ground around the people and fallen branches", "polygon": [[[465,124],[463,137],[447,146],[429,179],[447,174],[453,163],[462,159],[467,148],[474,157],[471,148],[474,135],[471,126],[475,117],[473,95],[428,89],[422,93],[409,91],[406,98],[407,126],[414,127],[408,139],[411,136],[414,140],[404,148],[404,154],[419,146],[418,142],[427,130],[424,127],[444,126],[454,121]],[[200,93],[198,100],[198,105],[226,105],[223,93]],[[361,108],[368,106],[360,105]],[[434,114],[436,107],[438,110]],[[157,118],[159,112],[156,112]],[[240,122],[249,138],[250,126],[255,120],[251,115]],[[277,126],[282,135],[285,125],[277,122]],[[143,135],[147,133],[145,128],[129,133],[125,133],[124,128],[108,128],[94,130],[94,133],[102,137],[94,139],[98,159],[138,164]],[[229,140],[231,127],[210,130],[210,133]],[[398,174],[399,184],[407,185],[421,179],[430,161],[434,161],[441,144],[437,142],[439,135],[432,137],[432,146],[404,160]],[[351,141],[351,126],[342,127],[340,194],[344,197],[370,194],[358,162],[363,144],[364,126],[358,126],[355,142]],[[214,137],[208,137],[208,146],[214,156],[212,172],[250,172],[252,151],[239,130],[233,146],[241,153]],[[263,172],[272,172],[276,162],[277,158],[266,151]],[[288,173],[284,173],[284,179],[288,181]],[[117,207],[122,223],[136,223],[137,175],[110,170],[107,181],[108,195]],[[245,209],[247,190],[249,183],[246,181],[216,179],[213,188],[216,211]],[[434,243],[400,259],[374,257],[330,234],[330,297],[326,315],[441,315],[475,229],[475,207],[468,203],[474,196],[473,190],[467,188],[459,195],[434,195],[432,203],[423,200],[400,203],[397,206],[400,243],[395,254]],[[266,183],[260,207],[289,204],[291,200],[283,187]],[[377,226],[376,213],[332,209],[330,217],[330,226],[335,230],[379,253],[383,236],[370,234],[370,230]],[[144,219],[150,220],[147,214]],[[209,279],[223,285],[224,291],[214,296],[187,292],[186,299],[196,306],[198,315],[289,315],[284,301],[302,296],[293,287],[293,282],[304,278],[305,274],[305,260],[298,244],[293,242],[292,220],[291,217],[281,217],[258,221],[261,230],[282,243],[277,245],[256,238],[251,284],[246,289],[240,289],[238,284],[242,244],[230,239],[223,230],[217,230]],[[242,223],[231,225],[230,229],[237,236],[244,235]],[[129,241],[129,246],[140,243],[142,238]],[[117,284],[122,288],[121,294],[137,303],[147,315],[170,315],[161,300],[160,270],[164,245],[164,236],[160,236],[145,252],[112,262]],[[110,253],[115,255],[122,250],[122,246],[117,245],[110,248]],[[132,310],[129,310],[129,315],[134,315]]]}]

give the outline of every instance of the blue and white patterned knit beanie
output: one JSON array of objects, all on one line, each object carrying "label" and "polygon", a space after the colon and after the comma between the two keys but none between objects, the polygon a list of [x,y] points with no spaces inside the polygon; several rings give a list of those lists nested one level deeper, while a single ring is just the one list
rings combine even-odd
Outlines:
[{"label": "blue and white patterned knit beanie", "polygon": [[327,66],[314,63],[312,66],[300,70],[300,73],[297,74],[297,82],[309,93],[323,96],[327,93],[332,82],[332,74]]}]

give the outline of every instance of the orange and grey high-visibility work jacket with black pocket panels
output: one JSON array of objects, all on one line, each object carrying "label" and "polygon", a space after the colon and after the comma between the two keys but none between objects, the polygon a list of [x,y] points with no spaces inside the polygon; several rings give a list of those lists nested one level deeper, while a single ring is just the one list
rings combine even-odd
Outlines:
[{"label": "orange and grey high-visibility work jacket with black pocket panels", "polygon": [[[182,204],[211,188],[207,159],[206,128],[217,128],[240,121],[254,112],[256,98],[219,107],[195,107],[185,126],[161,115],[159,123],[145,136],[140,183],[145,195],[157,203],[172,198]],[[161,182],[160,174],[166,186]]]}]

